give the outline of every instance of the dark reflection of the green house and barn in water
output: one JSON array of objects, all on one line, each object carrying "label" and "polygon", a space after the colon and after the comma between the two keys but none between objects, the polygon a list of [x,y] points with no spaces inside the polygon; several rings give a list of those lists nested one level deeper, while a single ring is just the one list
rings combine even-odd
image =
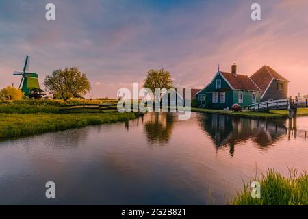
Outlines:
[{"label": "dark reflection of the green house and barn in water", "polygon": [[277,142],[286,134],[285,120],[257,120],[218,114],[206,114],[198,117],[198,122],[209,134],[217,149],[229,146],[233,156],[235,146],[252,140],[260,149]]}]

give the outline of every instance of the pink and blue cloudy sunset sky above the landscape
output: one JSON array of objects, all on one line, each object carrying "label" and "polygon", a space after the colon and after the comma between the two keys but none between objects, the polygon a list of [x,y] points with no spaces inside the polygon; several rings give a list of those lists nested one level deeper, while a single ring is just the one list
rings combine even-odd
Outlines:
[{"label": "pink and blue cloudy sunset sky above the landscape", "polygon": [[[55,5],[55,21],[45,5]],[[261,21],[251,5],[261,5]],[[116,97],[150,69],[169,70],[176,87],[203,88],[220,70],[252,75],[268,65],[308,94],[308,1],[305,0],[2,0],[0,88],[18,85],[25,56],[40,84],[53,70],[77,66],[92,90]]]}]

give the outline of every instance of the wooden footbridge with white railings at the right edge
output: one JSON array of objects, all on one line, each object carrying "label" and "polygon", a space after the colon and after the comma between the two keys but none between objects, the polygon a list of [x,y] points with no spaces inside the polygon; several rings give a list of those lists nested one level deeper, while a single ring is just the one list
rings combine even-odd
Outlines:
[{"label": "wooden footbridge with white railings at the right edge", "polygon": [[297,109],[308,108],[308,99],[280,99],[275,101],[266,101],[249,105],[251,111],[268,111],[268,110],[288,110],[289,117],[294,117],[297,114]]}]

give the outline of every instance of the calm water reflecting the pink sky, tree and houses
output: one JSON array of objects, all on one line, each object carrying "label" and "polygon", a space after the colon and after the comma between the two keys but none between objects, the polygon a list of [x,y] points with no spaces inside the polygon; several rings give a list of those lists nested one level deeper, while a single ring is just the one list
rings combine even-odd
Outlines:
[{"label": "calm water reflecting the pink sky, tree and houses", "polygon": [[305,131],[307,117],[146,114],[0,142],[0,204],[226,204],[256,172],[307,169]]}]

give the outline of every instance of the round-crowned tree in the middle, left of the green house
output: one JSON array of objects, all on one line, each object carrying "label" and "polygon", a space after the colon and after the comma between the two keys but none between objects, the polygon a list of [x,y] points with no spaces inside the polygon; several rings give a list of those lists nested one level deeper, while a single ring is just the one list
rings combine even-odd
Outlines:
[{"label": "round-crowned tree in the middle, left of the green house", "polygon": [[153,94],[155,94],[155,88],[159,88],[161,92],[158,96],[155,96],[159,101],[162,99],[164,92],[162,88],[166,88],[166,90],[173,88],[173,81],[171,79],[170,72],[164,70],[149,70],[146,79],[144,79],[144,88],[149,88]]}]

